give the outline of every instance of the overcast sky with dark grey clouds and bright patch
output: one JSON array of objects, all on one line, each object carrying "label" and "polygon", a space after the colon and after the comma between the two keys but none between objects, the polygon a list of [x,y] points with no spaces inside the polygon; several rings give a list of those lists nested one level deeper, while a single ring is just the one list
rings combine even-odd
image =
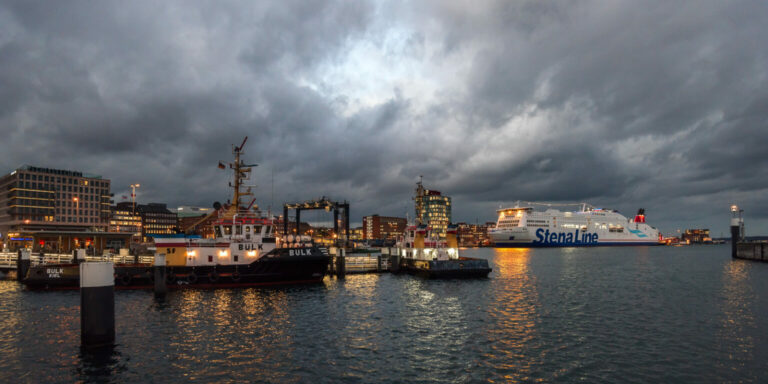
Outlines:
[{"label": "overcast sky with dark grey clouds and bright patch", "polygon": [[764,0],[0,0],[0,172],[211,206],[248,136],[263,208],[412,215],[424,175],[454,221],[587,201],[719,236],[737,203],[768,234],[766,41]]}]

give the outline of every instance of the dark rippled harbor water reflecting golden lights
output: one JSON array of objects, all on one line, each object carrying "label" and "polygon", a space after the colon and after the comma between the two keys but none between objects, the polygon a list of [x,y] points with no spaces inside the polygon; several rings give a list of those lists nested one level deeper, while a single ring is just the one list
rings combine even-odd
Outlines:
[{"label": "dark rippled harbor water reflecting golden lights", "polygon": [[3,280],[0,382],[768,381],[768,263],[728,245],[463,252],[490,277],[116,292],[95,352],[77,291]]}]

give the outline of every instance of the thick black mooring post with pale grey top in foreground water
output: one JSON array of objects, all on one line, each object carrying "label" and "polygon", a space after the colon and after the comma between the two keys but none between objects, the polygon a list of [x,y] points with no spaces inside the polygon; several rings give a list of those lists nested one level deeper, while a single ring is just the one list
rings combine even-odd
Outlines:
[{"label": "thick black mooring post with pale grey top in foreground water", "polygon": [[80,340],[85,348],[115,342],[115,266],[112,262],[80,264]]}]

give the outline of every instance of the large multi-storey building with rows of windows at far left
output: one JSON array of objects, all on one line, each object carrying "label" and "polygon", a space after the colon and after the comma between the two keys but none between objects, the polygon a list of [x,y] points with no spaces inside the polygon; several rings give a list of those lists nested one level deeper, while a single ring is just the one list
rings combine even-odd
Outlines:
[{"label": "large multi-storey building with rows of windows at far left", "polygon": [[24,165],[0,177],[0,233],[106,231],[111,196],[99,175]]}]

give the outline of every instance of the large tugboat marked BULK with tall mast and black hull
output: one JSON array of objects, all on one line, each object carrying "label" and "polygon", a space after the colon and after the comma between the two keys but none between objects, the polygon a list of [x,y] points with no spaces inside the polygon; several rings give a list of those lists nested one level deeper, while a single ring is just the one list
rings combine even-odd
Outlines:
[{"label": "large tugboat marked BULK with tall mast and black hull", "polygon": [[[184,235],[156,237],[156,255],[166,256],[166,279],[169,288],[217,288],[275,284],[318,283],[328,269],[330,256],[325,248],[315,246],[301,236],[279,239],[271,217],[264,217],[253,199],[248,206],[242,198],[252,196],[243,185],[253,166],[244,164],[246,137],[233,147],[235,161],[232,203],[215,204],[216,211],[206,219],[214,219],[215,238],[201,239]],[[219,164],[219,168],[226,166]],[[152,288],[150,264],[116,264],[116,289]],[[76,289],[79,266],[48,264],[33,266],[22,280],[28,288]]]}]

